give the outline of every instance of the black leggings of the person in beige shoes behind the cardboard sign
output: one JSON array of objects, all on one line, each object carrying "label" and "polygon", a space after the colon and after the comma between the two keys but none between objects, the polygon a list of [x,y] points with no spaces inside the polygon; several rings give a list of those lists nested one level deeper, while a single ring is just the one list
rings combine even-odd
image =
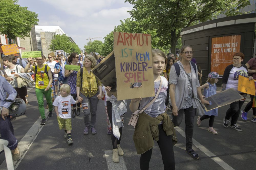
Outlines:
[{"label": "black leggings of the person in beige shoes behind the cardboard sign", "polygon": [[[113,125],[112,125],[112,103],[110,101],[107,101],[107,111],[108,111],[108,115],[109,115],[109,122],[111,124],[111,127],[113,127]],[[111,141],[112,141],[113,149],[116,149],[117,145],[120,144],[120,142],[121,142],[123,127],[119,128],[119,132],[120,132],[120,137],[119,137],[119,140],[118,140],[114,136],[113,130],[111,130]]]}]

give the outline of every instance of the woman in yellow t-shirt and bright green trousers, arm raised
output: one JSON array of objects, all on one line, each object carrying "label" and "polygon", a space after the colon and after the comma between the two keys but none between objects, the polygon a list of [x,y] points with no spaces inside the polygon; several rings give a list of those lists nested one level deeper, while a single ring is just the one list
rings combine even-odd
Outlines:
[{"label": "woman in yellow t-shirt and bright green trousers, arm raised", "polygon": [[[30,67],[30,61],[24,69],[25,73],[34,71],[36,74],[36,98],[38,102],[38,109],[41,114],[41,125],[46,123],[45,108],[44,108],[44,96],[49,106],[48,116],[52,116],[52,101],[51,101],[51,83],[52,74],[51,68],[44,64],[43,57],[36,58],[37,66]],[[45,68],[47,73],[45,72]]]}]

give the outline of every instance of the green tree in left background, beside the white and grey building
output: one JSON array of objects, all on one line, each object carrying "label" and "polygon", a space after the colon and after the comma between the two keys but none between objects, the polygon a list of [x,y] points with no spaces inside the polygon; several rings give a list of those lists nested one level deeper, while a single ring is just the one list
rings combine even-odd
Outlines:
[{"label": "green tree in left background, beside the white and grey building", "polygon": [[54,50],[64,50],[66,53],[78,53],[80,54],[81,50],[77,44],[70,42],[69,37],[65,34],[55,35],[51,40],[50,48]]}]

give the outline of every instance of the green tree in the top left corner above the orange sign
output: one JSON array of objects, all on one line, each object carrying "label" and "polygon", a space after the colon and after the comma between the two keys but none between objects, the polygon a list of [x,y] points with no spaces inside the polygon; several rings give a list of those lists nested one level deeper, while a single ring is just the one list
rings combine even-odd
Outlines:
[{"label": "green tree in the top left corner above the orange sign", "polygon": [[17,0],[0,1],[0,33],[5,34],[11,39],[16,37],[27,37],[33,25],[37,25],[38,19],[35,12],[27,10],[27,7],[21,7]]}]

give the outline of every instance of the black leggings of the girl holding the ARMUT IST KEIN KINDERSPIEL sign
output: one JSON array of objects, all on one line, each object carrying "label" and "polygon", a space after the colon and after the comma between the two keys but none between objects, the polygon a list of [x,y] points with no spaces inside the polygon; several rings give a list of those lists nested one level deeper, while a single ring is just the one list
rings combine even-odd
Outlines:
[{"label": "black leggings of the girl holding the ARMUT IST KEIN KINDERSPIEL sign", "polygon": [[[172,135],[166,136],[166,133],[163,129],[163,124],[158,125],[158,130],[159,130],[159,140],[157,141],[157,144],[162,154],[164,169],[175,169]],[[141,154],[140,168],[142,170],[149,168],[149,162],[151,159],[152,150],[153,148]]]}]

